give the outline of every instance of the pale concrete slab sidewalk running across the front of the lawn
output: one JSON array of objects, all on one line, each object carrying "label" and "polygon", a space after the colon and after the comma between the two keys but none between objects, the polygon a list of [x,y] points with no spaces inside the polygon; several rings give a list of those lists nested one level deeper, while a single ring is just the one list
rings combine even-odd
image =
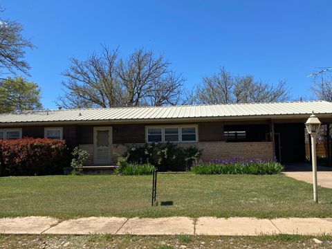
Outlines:
[{"label": "pale concrete slab sidewalk running across the front of the lawn", "polygon": [[88,217],[59,222],[43,216],[0,219],[3,234],[204,234],[204,235],[261,235],[261,234],[332,234],[332,218],[229,219],[201,217],[118,218]]}]

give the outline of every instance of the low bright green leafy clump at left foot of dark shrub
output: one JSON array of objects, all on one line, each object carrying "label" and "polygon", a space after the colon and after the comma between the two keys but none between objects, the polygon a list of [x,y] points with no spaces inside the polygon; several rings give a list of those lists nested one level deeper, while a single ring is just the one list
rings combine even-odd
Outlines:
[{"label": "low bright green leafy clump at left foot of dark shrub", "polygon": [[149,163],[127,163],[125,162],[125,158],[120,157],[118,161],[118,168],[116,169],[116,174],[121,174],[123,176],[142,176],[152,174],[154,169],[156,169],[154,165]]}]

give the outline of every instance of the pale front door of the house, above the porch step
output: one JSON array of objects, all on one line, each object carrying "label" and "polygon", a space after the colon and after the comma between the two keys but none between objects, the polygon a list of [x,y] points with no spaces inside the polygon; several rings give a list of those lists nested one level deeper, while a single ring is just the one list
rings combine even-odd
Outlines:
[{"label": "pale front door of the house, above the porch step", "polygon": [[93,127],[93,163],[109,165],[111,158],[112,127]]}]

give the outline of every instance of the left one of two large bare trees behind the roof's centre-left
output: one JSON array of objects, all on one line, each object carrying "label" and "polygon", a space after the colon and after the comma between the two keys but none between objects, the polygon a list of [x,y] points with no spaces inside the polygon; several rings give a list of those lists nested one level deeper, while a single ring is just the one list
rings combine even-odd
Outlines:
[{"label": "left one of two large bare trees behind the roof's centre-left", "polygon": [[102,46],[100,55],[93,53],[85,61],[71,59],[71,66],[62,73],[66,81],[64,95],[57,105],[65,108],[118,107],[124,104],[117,77],[118,50]]}]

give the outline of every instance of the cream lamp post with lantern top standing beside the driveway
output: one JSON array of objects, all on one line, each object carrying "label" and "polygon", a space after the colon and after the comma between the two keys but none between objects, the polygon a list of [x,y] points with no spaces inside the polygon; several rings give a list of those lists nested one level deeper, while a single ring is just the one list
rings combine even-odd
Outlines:
[{"label": "cream lamp post with lantern top standing beside the driveway", "polygon": [[317,194],[317,154],[316,154],[316,138],[317,133],[320,131],[320,120],[312,114],[306,120],[306,129],[311,136],[311,158],[313,161],[313,201],[318,202]]}]

